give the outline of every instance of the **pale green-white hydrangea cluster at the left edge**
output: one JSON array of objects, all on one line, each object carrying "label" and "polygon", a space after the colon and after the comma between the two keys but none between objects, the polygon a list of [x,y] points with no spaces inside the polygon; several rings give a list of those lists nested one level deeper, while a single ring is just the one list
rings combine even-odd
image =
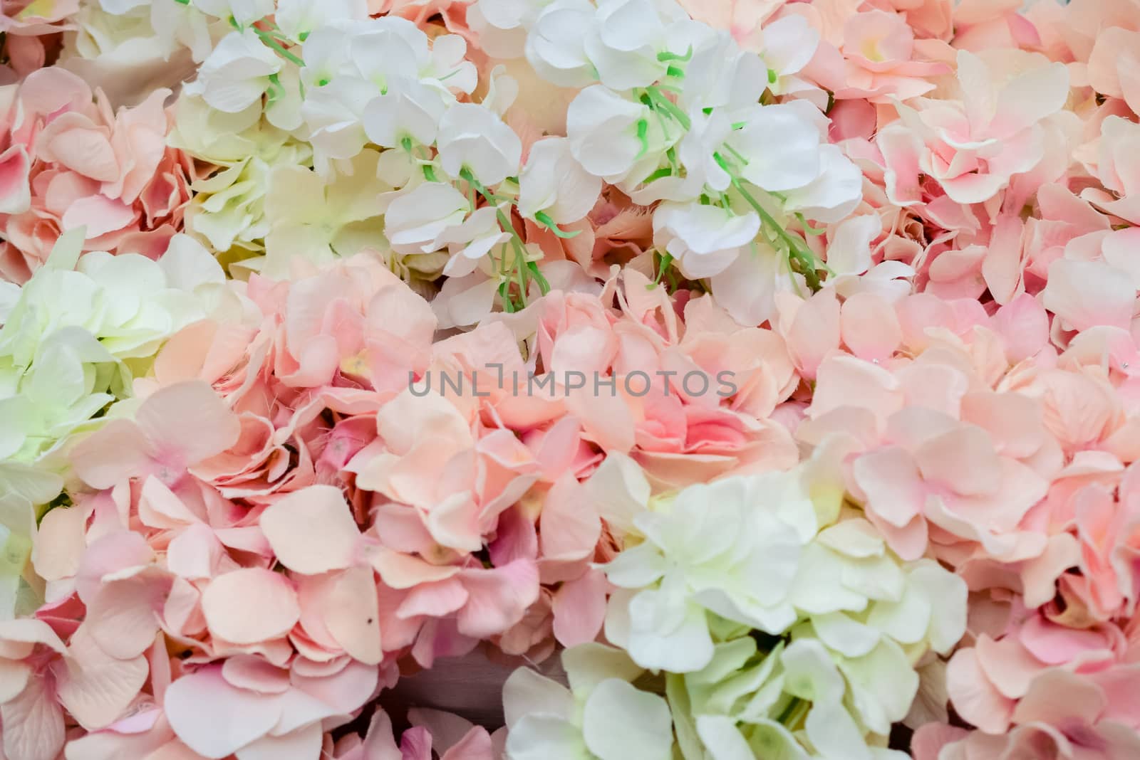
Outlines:
[{"label": "pale green-white hydrangea cluster at the left edge", "polygon": [[100,251],[79,257],[82,239],[82,230],[62,237],[0,314],[0,491],[33,504],[51,501],[62,486],[36,462],[129,395],[127,362],[152,356],[229,292],[214,257],[186,236],[176,236],[158,262]]}]

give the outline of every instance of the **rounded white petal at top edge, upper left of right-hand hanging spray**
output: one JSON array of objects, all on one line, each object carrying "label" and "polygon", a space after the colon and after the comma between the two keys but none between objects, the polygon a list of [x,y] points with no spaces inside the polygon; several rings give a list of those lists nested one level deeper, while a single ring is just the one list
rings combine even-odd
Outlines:
[{"label": "rounded white petal at top edge, upper left of right-hand hanging spray", "polygon": [[527,35],[527,60],[551,84],[583,88],[597,81],[586,56],[596,9],[588,0],[556,0],[538,15]]}]

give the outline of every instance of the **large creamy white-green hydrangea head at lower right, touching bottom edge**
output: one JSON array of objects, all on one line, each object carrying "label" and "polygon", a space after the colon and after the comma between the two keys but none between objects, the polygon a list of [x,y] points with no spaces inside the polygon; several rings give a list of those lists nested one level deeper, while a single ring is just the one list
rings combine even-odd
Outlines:
[{"label": "large creamy white-green hydrangea head at lower right, touching bottom edge", "polygon": [[903,562],[861,513],[813,501],[807,472],[654,498],[620,455],[594,476],[627,546],[603,567],[618,587],[605,635],[674,674],[686,758],[897,757],[882,747],[918,692],[914,663],[964,631],[962,579]]}]

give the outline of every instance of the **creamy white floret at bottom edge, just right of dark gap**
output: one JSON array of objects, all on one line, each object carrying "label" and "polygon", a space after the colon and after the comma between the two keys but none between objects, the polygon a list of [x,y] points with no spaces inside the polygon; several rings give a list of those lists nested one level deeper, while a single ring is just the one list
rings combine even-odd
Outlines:
[{"label": "creamy white floret at bottom edge, just right of dark gap", "polygon": [[669,760],[669,705],[630,681],[642,669],[619,650],[584,644],[562,653],[570,688],[528,668],[503,686],[507,760]]}]

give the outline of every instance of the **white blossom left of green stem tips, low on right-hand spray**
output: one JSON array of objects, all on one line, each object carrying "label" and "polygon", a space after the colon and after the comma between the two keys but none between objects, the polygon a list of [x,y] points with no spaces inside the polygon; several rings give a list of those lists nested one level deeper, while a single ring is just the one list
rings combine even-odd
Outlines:
[{"label": "white blossom left of green stem tips, low on right-hand spray", "polygon": [[653,214],[653,243],[668,251],[687,278],[723,272],[756,239],[760,217],[702,204],[663,203]]}]

